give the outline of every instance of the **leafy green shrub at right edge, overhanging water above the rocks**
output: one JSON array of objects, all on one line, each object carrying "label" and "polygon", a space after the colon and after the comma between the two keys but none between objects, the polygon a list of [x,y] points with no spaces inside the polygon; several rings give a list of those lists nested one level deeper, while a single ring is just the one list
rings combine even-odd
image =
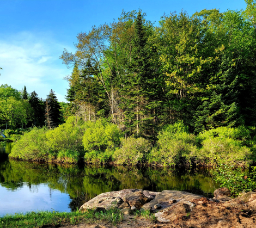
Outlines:
[{"label": "leafy green shrub at right edge, overhanging water above the rocks", "polygon": [[[231,163],[232,164],[232,163]],[[232,196],[256,189],[256,167],[242,168],[231,164],[215,165],[211,170],[214,180],[228,188]]]}]

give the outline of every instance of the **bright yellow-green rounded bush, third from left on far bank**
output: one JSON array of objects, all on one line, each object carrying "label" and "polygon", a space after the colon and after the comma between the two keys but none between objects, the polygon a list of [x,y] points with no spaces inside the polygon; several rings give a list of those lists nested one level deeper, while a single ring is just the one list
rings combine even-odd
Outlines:
[{"label": "bright yellow-green rounded bush, third from left on far bank", "polygon": [[107,162],[120,145],[123,135],[117,125],[104,120],[86,122],[83,135],[84,160],[93,163]]}]

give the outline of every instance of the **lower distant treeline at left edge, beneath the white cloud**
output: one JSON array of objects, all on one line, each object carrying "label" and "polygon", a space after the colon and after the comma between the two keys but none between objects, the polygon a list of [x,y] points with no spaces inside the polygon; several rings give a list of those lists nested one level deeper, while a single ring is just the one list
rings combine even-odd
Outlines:
[{"label": "lower distant treeline at left edge, beneath the white cloud", "polygon": [[48,126],[47,118],[50,127],[58,126],[64,122],[64,108],[65,103],[58,102],[53,90],[42,100],[35,91],[28,94],[26,86],[21,91],[7,84],[0,86],[0,129],[7,127],[8,133],[17,128]]}]

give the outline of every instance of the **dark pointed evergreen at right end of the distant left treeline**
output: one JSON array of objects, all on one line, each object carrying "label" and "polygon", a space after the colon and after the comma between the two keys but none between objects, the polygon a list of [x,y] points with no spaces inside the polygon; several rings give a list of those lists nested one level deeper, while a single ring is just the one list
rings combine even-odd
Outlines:
[{"label": "dark pointed evergreen at right end of the distant left treeline", "polygon": [[51,120],[54,126],[62,124],[62,112],[60,111],[61,107],[58,102],[55,92],[51,89],[50,94],[47,96],[46,101],[47,105],[51,107]]}]

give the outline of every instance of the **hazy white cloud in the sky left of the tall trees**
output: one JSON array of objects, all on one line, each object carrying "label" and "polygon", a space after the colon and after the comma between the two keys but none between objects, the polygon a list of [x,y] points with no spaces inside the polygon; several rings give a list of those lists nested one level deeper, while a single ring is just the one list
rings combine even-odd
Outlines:
[{"label": "hazy white cloud in the sky left of the tall trees", "polygon": [[70,70],[58,58],[64,47],[45,33],[22,32],[0,38],[0,84],[16,89],[26,85],[29,93],[35,90],[42,98],[53,89],[58,100],[65,101],[68,82],[63,77]]}]

